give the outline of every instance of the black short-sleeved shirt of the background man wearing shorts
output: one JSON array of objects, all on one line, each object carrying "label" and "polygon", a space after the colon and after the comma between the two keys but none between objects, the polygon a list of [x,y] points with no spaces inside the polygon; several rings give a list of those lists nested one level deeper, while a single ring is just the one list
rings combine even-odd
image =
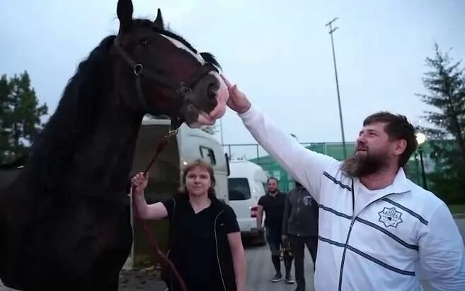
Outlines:
[{"label": "black short-sleeved shirt of the background man wearing shorts", "polygon": [[278,192],[275,196],[265,194],[258,200],[258,205],[263,206],[265,212],[265,227],[281,232],[282,218],[286,203],[286,194]]}]

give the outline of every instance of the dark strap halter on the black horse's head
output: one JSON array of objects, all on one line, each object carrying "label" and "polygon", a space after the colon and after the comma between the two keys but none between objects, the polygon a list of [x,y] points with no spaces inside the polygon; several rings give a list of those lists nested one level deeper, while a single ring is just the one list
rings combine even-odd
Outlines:
[{"label": "dark strap halter on the black horse's head", "polygon": [[[161,33],[161,32],[159,32]],[[181,121],[181,117],[179,117],[179,112],[176,108],[180,108],[183,104],[184,100],[188,100],[191,105],[199,108],[192,99],[190,99],[190,95],[192,93],[193,87],[207,74],[211,71],[218,72],[218,69],[213,66],[212,64],[206,63],[203,64],[197,71],[195,71],[187,81],[179,82],[173,81],[171,78],[166,78],[166,76],[157,73],[156,71],[151,71],[150,69],[145,69],[144,66],[140,63],[137,63],[130,57],[129,54],[125,51],[122,47],[120,40],[118,37],[115,37],[115,47],[117,52],[120,54],[122,59],[129,64],[133,71],[134,76],[136,77],[136,88],[137,88],[137,97],[139,98],[139,103],[142,105],[143,109],[146,112],[150,112],[149,107],[147,106],[147,102],[144,98],[144,93],[142,93],[142,84],[141,84],[141,76],[146,78],[151,78],[152,80],[165,85],[174,90],[175,93],[175,100],[173,102],[173,111],[171,112],[171,130],[176,132],[176,129],[183,123]]]}]

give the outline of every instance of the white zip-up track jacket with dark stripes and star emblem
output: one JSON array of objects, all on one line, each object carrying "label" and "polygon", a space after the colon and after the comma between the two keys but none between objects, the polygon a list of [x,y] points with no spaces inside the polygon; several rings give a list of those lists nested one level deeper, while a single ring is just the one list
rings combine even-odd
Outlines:
[{"label": "white zip-up track jacket with dark stripes and star emblem", "polygon": [[465,291],[464,241],[447,206],[400,169],[389,193],[354,213],[360,181],[341,162],[304,148],[251,107],[239,114],[256,141],[302,183],[320,207],[317,291]]}]

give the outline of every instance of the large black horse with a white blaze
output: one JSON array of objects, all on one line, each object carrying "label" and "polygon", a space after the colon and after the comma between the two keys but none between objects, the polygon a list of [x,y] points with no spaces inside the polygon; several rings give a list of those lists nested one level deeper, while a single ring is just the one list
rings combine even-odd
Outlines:
[{"label": "large black horse with a white blaze", "polygon": [[118,35],[79,64],[24,167],[0,172],[8,287],[117,290],[132,245],[126,189],[142,117],[165,114],[177,128],[217,106],[211,54],[166,30],[160,11],[132,19],[132,2],[120,0],[117,17]]}]

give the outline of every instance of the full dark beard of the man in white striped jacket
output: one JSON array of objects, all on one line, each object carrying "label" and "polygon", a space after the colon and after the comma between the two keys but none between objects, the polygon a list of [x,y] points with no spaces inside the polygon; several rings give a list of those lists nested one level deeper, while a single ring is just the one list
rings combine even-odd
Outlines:
[{"label": "full dark beard of the man in white striped jacket", "polygon": [[363,177],[381,170],[386,161],[386,155],[357,155],[354,153],[343,162],[342,170],[351,177]]}]

